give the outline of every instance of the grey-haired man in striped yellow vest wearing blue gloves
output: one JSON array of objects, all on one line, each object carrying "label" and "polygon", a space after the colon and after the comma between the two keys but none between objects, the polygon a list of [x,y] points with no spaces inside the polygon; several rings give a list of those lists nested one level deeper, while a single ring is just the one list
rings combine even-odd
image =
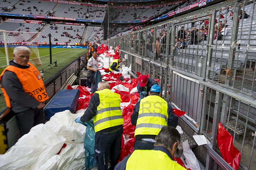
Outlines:
[{"label": "grey-haired man in striped yellow vest wearing blue gloves", "polygon": [[121,97],[110,91],[107,81],[98,83],[88,108],[76,123],[84,123],[93,118],[95,134],[94,158],[99,170],[108,169],[110,154],[111,169],[114,169],[120,156],[121,137],[123,134],[123,115],[120,108]]}]

